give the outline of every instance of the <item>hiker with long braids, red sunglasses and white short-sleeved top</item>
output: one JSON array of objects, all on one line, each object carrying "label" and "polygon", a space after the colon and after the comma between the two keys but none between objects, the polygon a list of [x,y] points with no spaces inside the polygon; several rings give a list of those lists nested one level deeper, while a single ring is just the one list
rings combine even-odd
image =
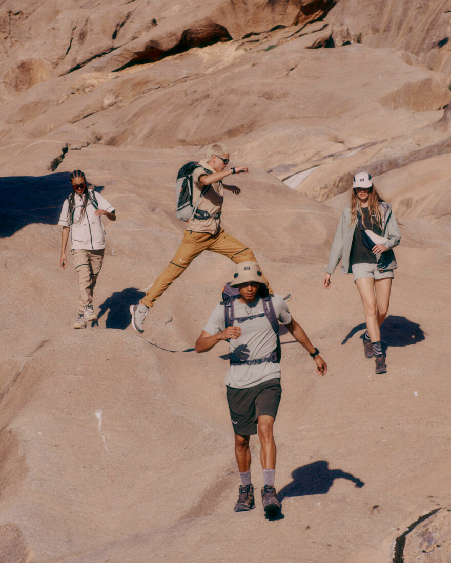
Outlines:
[{"label": "hiker with long braids, red sunglasses and white short-sleeved top", "polygon": [[70,175],[72,193],[64,200],[58,225],[61,233],[60,266],[67,265],[66,247],[72,243],[72,258],[78,275],[78,309],[74,328],[85,328],[86,321],[97,320],[92,307],[92,292],[103,262],[105,233],[101,217],[116,221],[116,211],[103,195],[94,192],[94,186],[86,183],[81,170]]}]

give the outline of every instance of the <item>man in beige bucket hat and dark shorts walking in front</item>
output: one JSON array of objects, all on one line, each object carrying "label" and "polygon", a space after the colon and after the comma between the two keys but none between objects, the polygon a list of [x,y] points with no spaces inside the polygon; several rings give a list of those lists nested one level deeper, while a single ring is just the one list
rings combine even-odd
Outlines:
[{"label": "man in beige bucket hat and dark shorts walking in front", "polygon": [[[281,395],[278,322],[284,324],[306,348],[316,363],[317,373],[324,375],[327,366],[302,327],[291,317],[284,299],[279,295],[268,295],[257,262],[238,263],[230,285],[239,293],[231,301],[216,305],[197,338],[196,352],[211,350],[222,340],[229,342],[231,359],[226,376],[227,401],[241,477],[238,501],[233,510],[241,512],[254,507],[249,438],[258,432],[263,467],[262,503],[264,511],[271,514],[281,508],[274,487],[276,443],[273,437]],[[232,313],[226,312],[227,307]],[[226,315],[232,315],[227,317],[230,325],[226,322]]]}]

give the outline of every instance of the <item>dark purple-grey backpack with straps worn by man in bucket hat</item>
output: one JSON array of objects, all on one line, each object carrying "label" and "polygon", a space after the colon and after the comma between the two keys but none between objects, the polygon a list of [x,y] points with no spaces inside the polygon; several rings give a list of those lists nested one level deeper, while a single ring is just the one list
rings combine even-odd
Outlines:
[{"label": "dark purple-grey backpack with straps worn by man in bucket hat", "polygon": [[261,298],[263,303],[263,313],[259,313],[257,315],[248,315],[245,317],[236,317],[235,311],[233,309],[233,303],[235,300],[240,297],[240,291],[237,287],[232,287],[230,282],[224,285],[222,291],[222,303],[224,305],[224,323],[227,327],[231,327],[233,325],[233,321],[237,321],[239,323],[244,323],[245,320],[257,319],[258,317],[266,316],[271,324],[272,329],[276,333],[277,337],[277,345],[276,350],[274,350],[267,358],[260,358],[258,360],[246,360],[237,358],[230,358],[231,365],[257,365],[263,364],[265,362],[271,361],[272,363],[279,363],[281,358],[281,349],[280,349],[280,338],[279,338],[279,327],[278,327],[278,320],[276,311],[274,310],[274,305],[272,304],[272,298],[268,293],[268,288],[264,284],[260,284],[258,296]]}]

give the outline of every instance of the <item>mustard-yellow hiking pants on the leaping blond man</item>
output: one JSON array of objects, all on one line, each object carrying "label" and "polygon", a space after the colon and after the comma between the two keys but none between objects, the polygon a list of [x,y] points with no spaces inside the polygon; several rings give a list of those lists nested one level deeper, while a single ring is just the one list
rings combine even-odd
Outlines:
[{"label": "mustard-yellow hiking pants on the leaping blond man", "polygon": [[[152,287],[145,294],[143,298],[144,305],[152,307],[158,297],[162,296],[171,283],[182,275],[194,258],[199,256],[204,250],[223,254],[235,263],[246,260],[257,262],[251,249],[245,247],[239,240],[224,233],[224,229],[221,229],[216,235],[185,231],[182,244],[180,244],[174,258],[169,262],[169,266],[158,276]],[[273,293],[268,280],[263,275],[262,280],[268,286],[269,293]]]}]

